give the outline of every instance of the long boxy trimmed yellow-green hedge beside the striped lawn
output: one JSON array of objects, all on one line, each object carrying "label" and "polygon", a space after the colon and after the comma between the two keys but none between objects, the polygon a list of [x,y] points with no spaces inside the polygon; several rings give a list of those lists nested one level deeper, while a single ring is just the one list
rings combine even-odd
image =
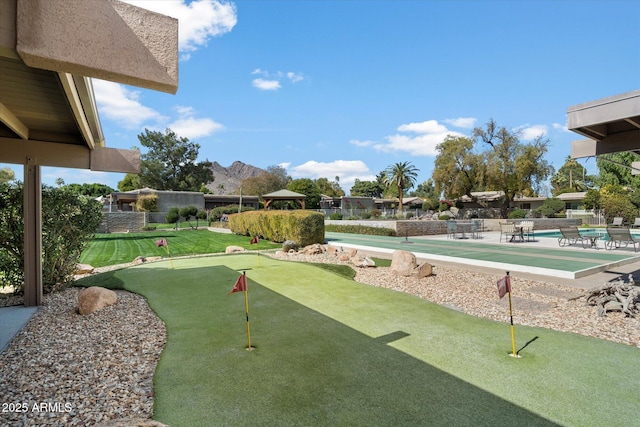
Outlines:
[{"label": "long boxy trimmed yellow-green hedge beside the striped lawn", "polygon": [[324,215],[318,212],[253,211],[229,215],[229,229],[273,242],[295,240],[300,246],[324,243]]}]

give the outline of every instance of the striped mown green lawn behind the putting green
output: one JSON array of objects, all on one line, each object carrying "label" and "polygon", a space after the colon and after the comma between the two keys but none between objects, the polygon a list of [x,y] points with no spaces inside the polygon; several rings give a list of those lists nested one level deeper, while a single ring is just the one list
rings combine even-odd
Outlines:
[{"label": "striped mown green lawn behind the putting green", "polygon": [[249,244],[247,236],[215,233],[208,230],[160,230],[143,233],[97,234],[80,257],[80,262],[93,267],[125,264],[138,256],[168,257],[165,247],[156,246],[156,240],[166,239],[169,253],[173,257],[224,253],[227,246],[242,246],[246,249],[264,250],[282,247],[261,240],[257,245]]}]

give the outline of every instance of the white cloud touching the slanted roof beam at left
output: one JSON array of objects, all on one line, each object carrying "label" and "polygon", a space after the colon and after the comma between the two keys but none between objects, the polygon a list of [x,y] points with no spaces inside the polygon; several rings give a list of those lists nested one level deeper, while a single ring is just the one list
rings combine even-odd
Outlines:
[{"label": "white cloud touching the slanted roof beam at left", "polygon": [[100,114],[125,128],[135,129],[148,121],[165,120],[159,112],[140,103],[140,91],[97,79],[93,79],[93,90]]}]

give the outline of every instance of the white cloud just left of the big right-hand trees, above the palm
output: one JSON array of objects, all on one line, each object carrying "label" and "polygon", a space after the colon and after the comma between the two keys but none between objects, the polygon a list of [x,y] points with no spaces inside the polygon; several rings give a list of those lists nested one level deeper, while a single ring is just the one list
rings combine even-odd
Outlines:
[{"label": "white cloud just left of the big right-hand trees, above the palm", "polygon": [[386,143],[374,143],[371,146],[376,151],[407,152],[412,156],[435,156],[436,146],[447,135],[464,136],[463,134],[447,129],[436,120],[427,120],[421,123],[409,123],[398,127],[400,132],[417,133],[419,135],[389,135],[385,137]]}]

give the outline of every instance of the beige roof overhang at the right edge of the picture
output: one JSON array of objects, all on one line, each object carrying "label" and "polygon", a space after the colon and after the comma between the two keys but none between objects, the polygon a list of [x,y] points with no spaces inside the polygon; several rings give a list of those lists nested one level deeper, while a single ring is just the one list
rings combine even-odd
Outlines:
[{"label": "beige roof overhang at the right edge of the picture", "polygon": [[573,141],[574,159],[631,151],[640,154],[640,90],[567,109],[568,128],[589,139]]}]

